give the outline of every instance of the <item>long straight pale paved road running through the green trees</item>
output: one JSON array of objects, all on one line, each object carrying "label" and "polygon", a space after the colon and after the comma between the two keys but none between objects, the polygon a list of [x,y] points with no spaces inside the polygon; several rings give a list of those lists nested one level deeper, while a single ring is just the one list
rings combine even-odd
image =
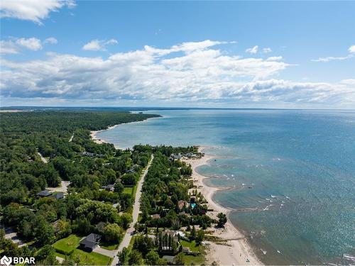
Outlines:
[{"label": "long straight pale paved road running through the green trees", "polygon": [[134,204],[133,204],[133,222],[129,225],[129,228],[127,229],[126,233],[124,234],[124,238],[122,239],[122,242],[119,244],[118,250],[116,250],[116,255],[114,257],[114,260],[112,260],[111,265],[116,265],[119,262],[119,258],[117,257],[117,253],[121,251],[123,248],[128,248],[129,243],[131,242],[132,238],[132,233],[134,232],[134,224],[138,221],[138,214],[139,214],[139,206],[141,204],[141,194],[142,194],[142,186],[144,179],[146,178],[146,174],[148,172],[149,167],[151,167],[151,162],[154,158],[154,155],[151,156],[151,160],[148,162],[148,166],[146,170],[143,172],[143,175],[141,179],[138,182],[138,187],[137,187],[137,192],[136,192],[136,198],[134,199]]}]

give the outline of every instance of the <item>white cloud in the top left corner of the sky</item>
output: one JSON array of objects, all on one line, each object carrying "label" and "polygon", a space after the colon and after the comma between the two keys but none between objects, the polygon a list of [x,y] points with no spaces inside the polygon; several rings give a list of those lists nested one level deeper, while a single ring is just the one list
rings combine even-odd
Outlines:
[{"label": "white cloud in the top left corner of the sky", "polygon": [[75,6],[73,0],[1,0],[1,18],[18,18],[41,24],[51,11]]}]

